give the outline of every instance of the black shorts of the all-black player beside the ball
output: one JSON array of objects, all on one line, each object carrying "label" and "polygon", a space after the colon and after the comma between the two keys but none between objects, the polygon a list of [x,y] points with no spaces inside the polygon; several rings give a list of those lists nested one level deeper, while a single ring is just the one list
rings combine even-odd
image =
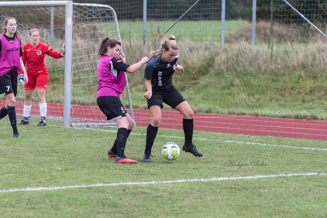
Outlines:
[{"label": "black shorts of the all-black player beside the ball", "polygon": [[183,101],[186,101],[185,98],[175,87],[167,92],[157,92],[152,90],[151,98],[147,99],[147,108],[150,109],[153,105],[163,108],[163,103],[165,103],[175,109],[175,107]]}]

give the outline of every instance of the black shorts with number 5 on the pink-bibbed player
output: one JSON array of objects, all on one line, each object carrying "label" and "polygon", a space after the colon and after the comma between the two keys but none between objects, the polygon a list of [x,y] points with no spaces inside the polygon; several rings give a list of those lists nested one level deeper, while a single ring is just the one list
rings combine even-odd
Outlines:
[{"label": "black shorts with number 5 on the pink-bibbed player", "polygon": [[116,96],[100,96],[96,98],[96,103],[98,103],[101,111],[107,116],[107,122],[126,117],[127,111]]}]

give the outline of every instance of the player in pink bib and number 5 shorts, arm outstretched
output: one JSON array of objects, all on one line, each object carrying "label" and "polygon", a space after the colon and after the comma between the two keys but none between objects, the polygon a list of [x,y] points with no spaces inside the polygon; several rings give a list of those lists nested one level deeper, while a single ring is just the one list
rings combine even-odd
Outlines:
[{"label": "player in pink bib and number 5 shorts, arm outstretched", "polygon": [[124,92],[126,85],[125,73],[134,73],[149,59],[142,58],[139,62],[129,65],[125,63],[125,54],[120,52],[121,42],[104,38],[99,46],[100,60],[96,66],[99,77],[96,102],[106,115],[107,122],[114,120],[118,125],[117,138],[108,151],[109,158],[115,158],[116,163],[137,163],[128,159],[125,154],[126,140],[134,127],[134,121],[124,109],[119,94]]}]

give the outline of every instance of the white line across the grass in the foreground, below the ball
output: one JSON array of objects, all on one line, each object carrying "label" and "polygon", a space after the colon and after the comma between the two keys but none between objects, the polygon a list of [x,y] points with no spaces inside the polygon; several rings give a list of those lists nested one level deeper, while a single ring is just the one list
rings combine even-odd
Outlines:
[{"label": "white line across the grass in the foreground, below the ball", "polygon": [[223,180],[238,180],[238,179],[259,179],[259,178],[273,178],[273,177],[286,177],[286,176],[325,176],[327,173],[293,173],[293,174],[278,174],[278,175],[263,175],[263,176],[240,176],[240,177],[214,177],[211,179],[179,179],[169,181],[152,181],[152,182],[121,182],[121,183],[97,183],[91,185],[72,185],[61,187],[38,187],[38,188],[25,188],[25,189],[3,189],[0,193],[6,192],[31,192],[31,191],[51,191],[60,189],[74,189],[74,188],[88,188],[88,187],[103,187],[103,186],[121,186],[121,185],[151,185],[163,183],[181,183],[181,182],[210,182],[210,181],[223,181]]}]

